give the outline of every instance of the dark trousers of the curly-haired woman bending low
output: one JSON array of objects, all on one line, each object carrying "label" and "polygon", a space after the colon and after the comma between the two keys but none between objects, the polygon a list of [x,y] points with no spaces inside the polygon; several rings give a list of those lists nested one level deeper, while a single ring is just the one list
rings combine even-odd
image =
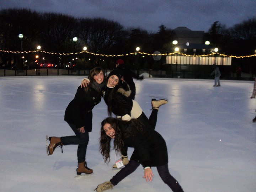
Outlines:
[{"label": "dark trousers of the curly-haired woman bending low", "polygon": [[[139,165],[140,165],[139,162],[130,160],[129,163],[123,169],[121,169],[115,176],[112,177],[110,182],[113,185],[117,185],[125,177],[127,177],[132,172],[134,172]],[[167,184],[171,188],[172,191],[183,192],[180,184],[176,181],[174,177],[171,176],[167,164],[162,166],[157,166],[156,168],[158,170],[158,173],[161,179],[164,181],[165,184]]]}]

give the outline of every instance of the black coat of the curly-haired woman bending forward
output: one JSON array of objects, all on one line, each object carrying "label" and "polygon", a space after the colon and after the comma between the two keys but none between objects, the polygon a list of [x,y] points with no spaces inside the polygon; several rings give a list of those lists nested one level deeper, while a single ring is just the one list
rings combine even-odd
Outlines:
[{"label": "black coat of the curly-haired woman bending forward", "polygon": [[[122,122],[119,127],[123,133],[131,129]],[[134,148],[130,159],[140,162],[143,167],[166,165],[168,153],[164,138],[155,130],[144,128],[144,131],[135,133],[133,137],[123,138],[124,145]]]}]

